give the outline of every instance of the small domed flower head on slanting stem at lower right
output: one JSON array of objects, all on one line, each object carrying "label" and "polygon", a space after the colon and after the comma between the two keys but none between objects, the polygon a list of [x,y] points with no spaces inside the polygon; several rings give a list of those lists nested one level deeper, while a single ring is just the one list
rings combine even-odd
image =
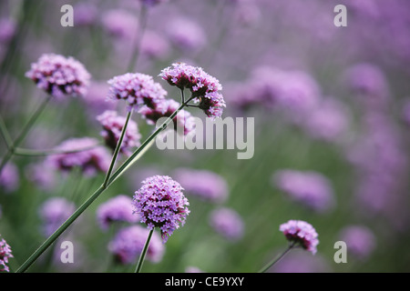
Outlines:
[{"label": "small domed flower head on slanting stem at lower right", "polygon": [[305,250],[316,254],[316,246],[319,244],[318,234],[312,225],[302,220],[289,220],[279,226],[279,230],[293,244],[302,246]]}]

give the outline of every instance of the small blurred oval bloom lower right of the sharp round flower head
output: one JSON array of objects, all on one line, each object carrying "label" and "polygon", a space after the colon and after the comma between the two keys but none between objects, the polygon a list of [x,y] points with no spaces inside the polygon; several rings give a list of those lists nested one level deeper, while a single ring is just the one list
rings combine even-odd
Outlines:
[{"label": "small blurred oval bloom lower right of the sharp round flower head", "polygon": [[220,208],[211,212],[210,226],[221,236],[236,241],[243,236],[243,221],[241,216],[231,208]]}]

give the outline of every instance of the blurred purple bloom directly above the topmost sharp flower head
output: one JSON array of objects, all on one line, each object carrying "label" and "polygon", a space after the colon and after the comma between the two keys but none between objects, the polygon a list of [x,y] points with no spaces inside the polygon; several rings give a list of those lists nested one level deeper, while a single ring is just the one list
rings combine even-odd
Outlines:
[{"label": "blurred purple bloom directly above the topmost sharp flower head", "polygon": [[206,42],[202,27],[188,18],[173,19],[167,24],[167,32],[172,44],[183,51],[200,49]]}]

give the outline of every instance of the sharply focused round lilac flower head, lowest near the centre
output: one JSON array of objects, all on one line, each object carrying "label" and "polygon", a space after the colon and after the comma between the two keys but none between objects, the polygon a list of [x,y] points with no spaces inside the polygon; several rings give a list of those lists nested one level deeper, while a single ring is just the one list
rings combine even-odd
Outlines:
[{"label": "sharply focused round lilac flower head, lowest near the centre", "polygon": [[142,184],[134,196],[134,211],[149,229],[160,229],[165,244],[179,224],[185,224],[190,204],[183,188],[169,176],[151,176]]}]

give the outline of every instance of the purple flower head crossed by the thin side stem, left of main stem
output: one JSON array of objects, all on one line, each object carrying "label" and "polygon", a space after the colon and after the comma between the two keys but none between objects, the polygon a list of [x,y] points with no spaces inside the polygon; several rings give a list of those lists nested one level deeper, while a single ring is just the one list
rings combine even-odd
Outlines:
[{"label": "purple flower head crossed by the thin side stem, left of main stem", "polygon": [[[107,110],[102,115],[97,116],[97,121],[103,126],[103,131],[101,131],[100,135],[104,137],[106,145],[113,150],[115,150],[118,144],[126,120],[126,117],[119,116],[117,112],[113,110]],[[140,137],[137,123],[133,120],[128,120],[127,130],[122,140],[120,151],[128,155],[129,148],[140,145]]]}]

